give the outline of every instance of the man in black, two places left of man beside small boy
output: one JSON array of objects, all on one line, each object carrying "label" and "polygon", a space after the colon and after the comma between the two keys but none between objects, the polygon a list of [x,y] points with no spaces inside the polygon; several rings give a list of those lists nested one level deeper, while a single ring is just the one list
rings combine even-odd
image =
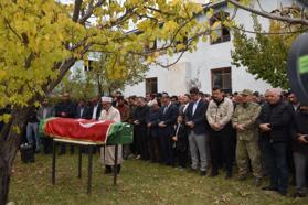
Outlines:
[{"label": "man in black, two places left of man beside small boy", "polygon": [[[147,117],[149,115],[149,107],[144,97],[138,97],[137,108],[134,117],[134,125],[136,130],[137,154],[141,155],[141,160],[149,160],[148,139],[147,139]],[[135,140],[134,139],[134,140]],[[137,155],[137,159],[139,158]]]}]

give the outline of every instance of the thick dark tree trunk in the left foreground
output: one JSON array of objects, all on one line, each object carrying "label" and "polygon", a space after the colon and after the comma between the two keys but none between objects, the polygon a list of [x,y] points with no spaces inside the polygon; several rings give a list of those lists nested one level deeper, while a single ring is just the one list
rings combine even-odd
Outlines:
[{"label": "thick dark tree trunk in the left foreground", "polygon": [[11,120],[4,126],[0,134],[0,205],[8,201],[11,171],[17,151],[21,142],[21,133],[31,108],[13,108]]}]

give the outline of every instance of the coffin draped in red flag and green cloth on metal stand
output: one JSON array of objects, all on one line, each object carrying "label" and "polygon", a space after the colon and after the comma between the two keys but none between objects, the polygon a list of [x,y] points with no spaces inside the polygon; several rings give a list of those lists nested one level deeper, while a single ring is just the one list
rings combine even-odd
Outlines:
[{"label": "coffin draped in red flag and green cloth on metal stand", "polygon": [[132,126],[126,122],[49,118],[40,122],[41,136],[98,144],[132,143]]}]

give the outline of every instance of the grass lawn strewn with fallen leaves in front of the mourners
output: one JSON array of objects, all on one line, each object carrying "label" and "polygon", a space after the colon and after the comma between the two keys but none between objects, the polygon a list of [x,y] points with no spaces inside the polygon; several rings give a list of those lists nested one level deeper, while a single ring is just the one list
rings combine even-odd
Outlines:
[{"label": "grass lawn strewn with fallen leaves in front of the mourners", "polygon": [[128,160],[123,164],[117,186],[104,175],[98,154],[93,162],[92,195],[86,194],[86,165],[77,179],[77,154],[57,158],[56,185],[51,184],[51,155],[38,154],[35,163],[23,164],[17,157],[9,201],[17,204],[308,204],[306,198],[283,197],[254,187],[253,179],[225,181],[179,171],[159,164]]}]

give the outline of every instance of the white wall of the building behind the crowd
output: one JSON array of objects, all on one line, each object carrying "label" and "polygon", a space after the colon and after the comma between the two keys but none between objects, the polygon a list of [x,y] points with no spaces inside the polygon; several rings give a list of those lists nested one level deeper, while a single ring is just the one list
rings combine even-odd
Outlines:
[{"label": "white wall of the building behind the crowd", "polygon": [[[291,0],[262,0],[261,1],[263,9],[266,11],[272,11],[278,7],[280,3],[283,6],[291,4]],[[258,8],[258,4],[255,4],[255,8]],[[233,13],[233,9],[224,8],[226,12],[231,15]],[[201,17],[200,20],[204,20],[205,17]],[[258,18],[261,23],[263,24],[263,29],[267,30],[269,22],[267,19]],[[251,13],[244,10],[238,10],[235,17],[235,22],[238,24],[244,24],[246,30],[253,31],[253,19]],[[253,35],[253,34],[249,34]],[[190,74],[188,74],[191,78],[198,78],[201,83],[201,90],[204,93],[211,93],[212,82],[211,82],[211,69],[222,68],[222,67],[231,67],[232,73],[232,91],[240,91],[244,88],[248,88],[252,90],[257,90],[264,93],[270,86],[261,79],[255,79],[255,77],[247,73],[244,67],[236,67],[231,64],[231,51],[233,50],[232,44],[232,34],[231,41],[210,45],[209,41],[206,43],[200,42],[198,44],[198,50],[194,53],[185,53],[182,58],[179,61],[179,64],[189,64]],[[162,57],[162,58],[166,58]],[[172,62],[174,57],[167,57],[169,62]],[[172,77],[168,77],[170,75],[177,75]],[[170,82],[170,79],[177,79],[177,84],[182,83],[185,84],[185,75],[181,72],[172,72],[172,67],[170,68],[161,68],[159,66],[151,66],[150,71],[147,73],[148,77],[157,77],[158,78],[158,91],[168,91],[170,95],[178,95],[187,93],[184,86],[178,86],[179,89],[174,90],[171,86],[174,82]],[[170,88],[172,87],[172,89]],[[135,85],[127,86],[125,88],[124,94],[126,96],[129,95],[141,95],[146,94],[146,85],[145,82]]]}]

